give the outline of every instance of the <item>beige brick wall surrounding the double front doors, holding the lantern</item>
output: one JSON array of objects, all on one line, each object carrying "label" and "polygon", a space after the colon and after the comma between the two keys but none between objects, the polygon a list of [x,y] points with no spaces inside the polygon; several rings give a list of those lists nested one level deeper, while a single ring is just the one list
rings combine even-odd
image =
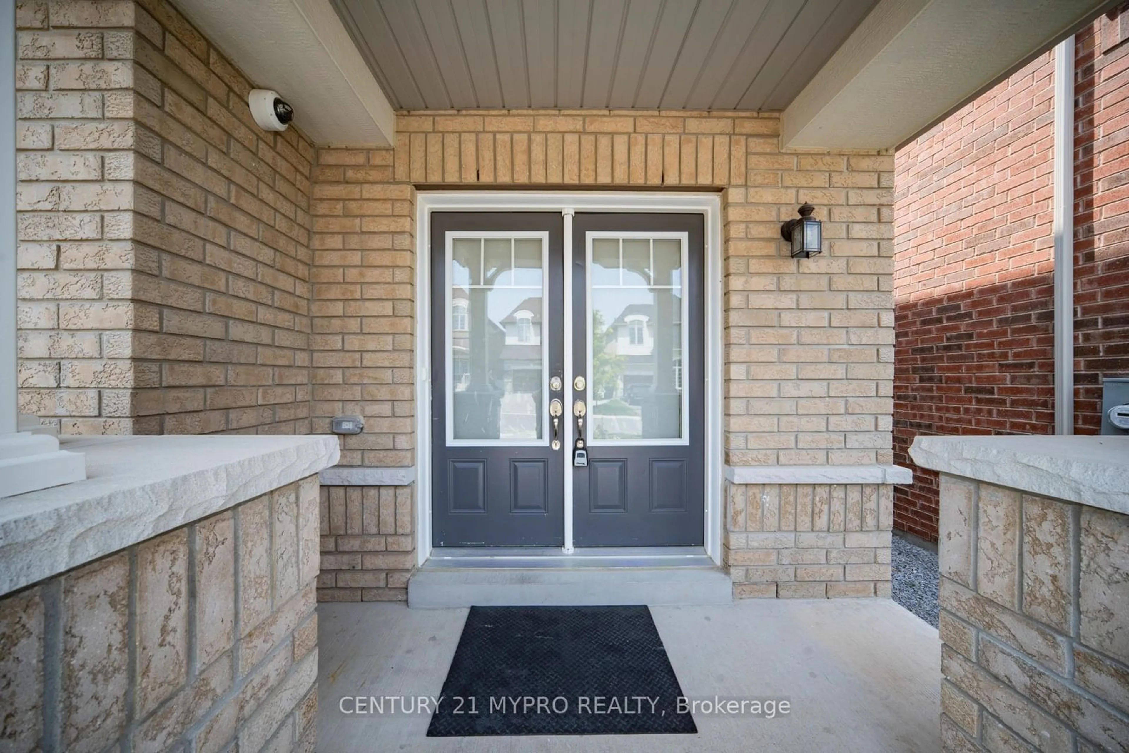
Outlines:
[{"label": "beige brick wall surrounding the double front doors, holding the lantern", "polygon": [[[394,148],[320,149],[310,203],[313,430],[359,413],[366,431],[343,438],[343,465],[414,462],[417,190],[695,189],[723,200],[725,462],[891,463],[892,170],[892,155],[786,152],[771,113],[404,113]],[[805,201],[823,220],[826,252],[793,260],[780,224]],[[890,487],[848,489],[867,490],[876,526]],[[338,491],[342,509],[350,494],[371,493]],[[831,539],[846,531],[824,529]],[[874,541],[865,546],[838,533],[838,543],[805,552],[819,562],[787,563],[798,557],[795,541],[760,557],[771,554],[780,595],[889,595],[890,523],[866,531]],[[730,535],[726,551],[749,550],[749,541]],[[333,598],[390,597],[366,584],[386,579],[392,588],[404,575],[386,571],[384,560],[370,569],[356,550],[330,558],[353,571],[325,575],[326,597],[331,588]],[[738,595],[777,595],[774,580],[764,585],[768,568],[726,562]]]}]

